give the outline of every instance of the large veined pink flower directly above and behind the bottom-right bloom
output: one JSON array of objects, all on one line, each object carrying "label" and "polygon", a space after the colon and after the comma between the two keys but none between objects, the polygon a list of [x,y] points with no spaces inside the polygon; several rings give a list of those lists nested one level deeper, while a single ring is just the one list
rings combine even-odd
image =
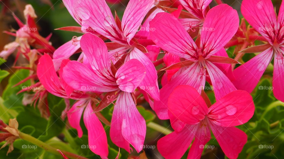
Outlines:
[{"label": "large veined pink flower directly above and behind the bottom-right bloom", "polygon": [[236,90],[220,70],[220,64],[230,66],[236,62],[225,57],[227,53],[223,47],[237,31],[238,22],[237,11],[232,7],[227,4],[215,6],[206,15],[200,40],[194,42],[178,19],[169,13],[158,13],[150,21],[150,28],[154,30],[150,32],[151,39],[167,52],[185,59],[176,64],[183,68],[162,87],[160,100],[154,102],[154,110],[160,119],[169,119],[167,99],[178,85],[190,85],[200,93],[204,89],[206,77],[210,77],[217,100]]}]

